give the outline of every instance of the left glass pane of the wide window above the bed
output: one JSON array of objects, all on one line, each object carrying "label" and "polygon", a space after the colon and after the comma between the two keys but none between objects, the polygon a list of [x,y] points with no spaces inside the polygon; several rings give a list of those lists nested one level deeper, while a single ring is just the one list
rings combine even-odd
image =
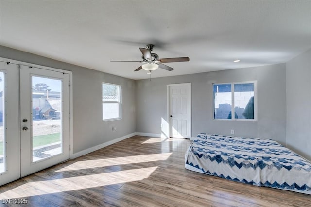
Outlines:
[{"label": "left glass pane of the wide window above the bed", "polygon": [[231,119],[231,84],[214,84],[214,119]]}]

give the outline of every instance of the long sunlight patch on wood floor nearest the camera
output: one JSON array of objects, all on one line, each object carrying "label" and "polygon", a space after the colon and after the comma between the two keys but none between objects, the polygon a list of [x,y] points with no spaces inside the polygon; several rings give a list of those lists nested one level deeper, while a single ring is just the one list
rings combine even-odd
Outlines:
[{"label": "long sunlight patch on wood floor nearest the camera", "polygon": [[95,188],[148,178],[157,166],[111,173],[100,173],[56,180],[35,181],[23,184],[0,194],[0,199],[23,198],[70,190]]}]

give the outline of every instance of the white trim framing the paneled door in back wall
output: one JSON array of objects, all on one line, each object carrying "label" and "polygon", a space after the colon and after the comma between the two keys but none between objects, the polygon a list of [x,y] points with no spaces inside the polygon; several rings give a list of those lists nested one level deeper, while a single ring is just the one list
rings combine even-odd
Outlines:
[{"label": "white trim framing the paneled door in back wall", "polygon": [[[190,134],[190,137],[192,136],[192,132],[191,132],[191,129],[192,129],[192,123],[191,123],[191,120],[192,120],[192,100],[191,100],[191,83],[179,83],[179,84],[167,84],[166,85],[166,114],[167,114],[167,123],[168,123],[168,127],[167,128],[167,131],[166,132],[163,132],[164,134],[167,134],[168,137],[172,137],[172,123],[171,123],[171,119],[170,119],[170,87],[171,86],[188,86],[189,89],[190,89],[190,93],[189,93],[189,98],[190,98],[190,117],[189,117],[189,134]],[[163,127],[162,127],[163,128]],[[189,138],[190,138],[189,137]]]}]

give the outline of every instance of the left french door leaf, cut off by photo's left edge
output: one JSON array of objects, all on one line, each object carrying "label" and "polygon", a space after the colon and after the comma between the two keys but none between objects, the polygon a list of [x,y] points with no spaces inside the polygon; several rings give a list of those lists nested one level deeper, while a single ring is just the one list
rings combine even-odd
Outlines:
[{"label": "left french door leaf, cut off by photo's left edge", "polygon": [[20,176],[18,65],[0,66],[0,185]]}]

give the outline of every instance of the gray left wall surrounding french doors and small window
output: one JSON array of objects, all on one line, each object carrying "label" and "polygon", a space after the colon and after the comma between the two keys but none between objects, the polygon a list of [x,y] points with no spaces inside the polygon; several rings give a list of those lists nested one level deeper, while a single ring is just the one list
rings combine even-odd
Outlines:
[{"label": "gray left wall surrounding french doors and small window", "polygon": [[[73,72],[73,153],[136,131],[134,80],[3,46],[0,46],[0,56]],[[102,121],[102,82],[121,85],[121,120]],[[111,125],[116,126],[116,132],[112,132]]]}]

